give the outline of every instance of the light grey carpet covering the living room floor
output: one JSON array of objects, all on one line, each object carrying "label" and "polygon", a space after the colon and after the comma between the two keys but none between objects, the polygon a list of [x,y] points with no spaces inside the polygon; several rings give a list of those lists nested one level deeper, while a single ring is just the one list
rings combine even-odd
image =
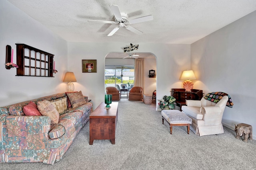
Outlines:
[{"label": "light grey carpet covering the living room floor", "polygon": [[187,134],[186,126],[174,126],[172,135],[155,104],[120,101],[116,144],[94,140],[89,145],[89,122],[53,165],[3,163],[12,170],[256,170],[256,141],[244,143],[235,131],[224,127],[224,134]]}]

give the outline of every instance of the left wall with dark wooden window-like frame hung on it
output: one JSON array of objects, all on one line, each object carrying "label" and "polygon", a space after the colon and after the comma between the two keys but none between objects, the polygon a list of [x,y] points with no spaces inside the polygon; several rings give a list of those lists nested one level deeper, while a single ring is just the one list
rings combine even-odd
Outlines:
[{"label": "left wall with dark wooden window-like frame hung on it", "polygon": [[[6,45],[14,49],[16,63],[15,43],[54,54],[58,73],[53,78],[15,76],[16,68],[5,68]],[[0,107],[65,92],[62,76],[67,69],[67,42],[6,0],[0,1],[0,49]]]}]

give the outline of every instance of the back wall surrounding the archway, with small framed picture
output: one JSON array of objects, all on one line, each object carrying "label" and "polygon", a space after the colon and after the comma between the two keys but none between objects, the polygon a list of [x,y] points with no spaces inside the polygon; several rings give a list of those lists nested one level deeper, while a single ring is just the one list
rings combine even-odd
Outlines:
[{"label": "back wall surrounding the archway, with small framed picture", "polygon": [[[134,43],[134,42],[131,42]],[[171,88],[182,88],[182,70],[190,69],[190,45],[139,44],[138,52],[156,56],[157,99],[170,95]],[[93,109],[104,101],[105,57],[110,52],[122,52],[127,43],[68,43],[68,71],[74,72],[75,90],[92,99]],[[97,72],[83,73],[82,59],[96,59]],[[151,67],[150,67],[151,68]]]}]

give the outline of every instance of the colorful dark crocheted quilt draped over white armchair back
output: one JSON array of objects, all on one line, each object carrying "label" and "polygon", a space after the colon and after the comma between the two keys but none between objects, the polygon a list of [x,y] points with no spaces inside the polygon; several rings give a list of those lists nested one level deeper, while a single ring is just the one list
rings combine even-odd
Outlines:
[{"label": "colorful dark crocheted quilt draped over white armchair back", "polygon": [[231,97],[228,94],[223,93],[223,92],[208,93],[204,96],[204,99],[209,100],[209,101],[214,102],[214,103],[218,103],[222,99],[223,96],[228,96],[228,102],[227,102],[226,106],[232,108],[233,107],[233,102],[232,102]]}]

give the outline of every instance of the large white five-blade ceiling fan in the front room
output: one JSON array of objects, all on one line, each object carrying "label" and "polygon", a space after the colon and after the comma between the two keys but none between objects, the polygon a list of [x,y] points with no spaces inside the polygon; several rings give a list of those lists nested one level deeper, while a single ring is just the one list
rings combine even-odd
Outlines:
[{"label": "large white five-blade ceiling fan in the front room", "polygon": [[118,31],[118,29],[120,27],[125,27],[126,29],[128,29],[129,31],[132,31],[138,35],[142,34],[143,32],[130,26],[127,24],[133,24],[133,23],[140,23],[140,22],[145,22],[145,21],[151,21],[153,20],[153,16],[149,15],[149,16],[144,16],[144,17],[140,17],[140,18],[135,18],[132,20],[128,20],[128,14],[124,13],[124,12],[120,12],[119,8],[117,5],[110,5],[110,9],[112,10],[114,16],[115,16],[115,20],[114,21],[100,21],[100,20],[88,20],[88,22],[98,22],[98,23],[117,23],[119,24],[118,27],[115,27],[109,34],[108,36],[112,36],[114,35],[114,33],[116,33],[116,31]]}]

